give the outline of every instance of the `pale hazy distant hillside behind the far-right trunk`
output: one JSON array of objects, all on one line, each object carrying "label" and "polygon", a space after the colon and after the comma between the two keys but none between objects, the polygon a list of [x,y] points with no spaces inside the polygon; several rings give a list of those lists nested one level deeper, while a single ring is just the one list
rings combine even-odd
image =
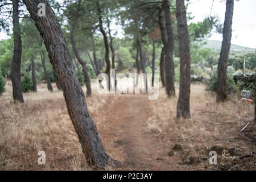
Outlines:
[{"label": "pale hazy distant hillside behind the far-right trunk", "polygon": [[[221,41],[218,40],[206,40],[207,44],[203,47],[209,47],[212,48],[216,51],[221,51]],[[254,48],[249,48],[249,47],[243,47],[243,46],[237,46],[235,44],[231,44],[231,51],[239,51],[239,52],[251,52],[255,51]]]}]

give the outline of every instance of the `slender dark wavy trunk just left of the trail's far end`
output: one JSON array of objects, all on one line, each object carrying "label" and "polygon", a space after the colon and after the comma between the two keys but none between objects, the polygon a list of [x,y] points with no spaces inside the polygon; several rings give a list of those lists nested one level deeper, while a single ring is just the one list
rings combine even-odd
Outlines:
[{"label": "slender dark wavy trunk just left of the trail's far end", "polygon": [[99,30],[101,31],[102,35],[103,35],[103,39],[104,39],[104,43],[105,43],[105,61],[106,61],[106,74],[109,77],[109,90],[110,90],[110,60],[109,60],[109,43],[107,41],[107,34],[103,28],[102,25],[102,15],[101,15],[101,7],[99,6],[99,0],[97,0],[97,13],[98,13],[98,19],[99,19]]}]

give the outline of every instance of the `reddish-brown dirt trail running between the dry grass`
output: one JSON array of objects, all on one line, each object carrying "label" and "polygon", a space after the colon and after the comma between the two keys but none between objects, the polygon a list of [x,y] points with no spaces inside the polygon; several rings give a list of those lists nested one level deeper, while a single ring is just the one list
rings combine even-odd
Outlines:
[{"label": "reddish-brown dirt trail running between the dry grass", "polygon": [[[108,110],[104,123],[109,131],[101,131],[103,140],[115,143],[122,148],[125,160],[122,169],[131,170],[175,170],[179,166],[175,158],[169,158],[163,141],[154,138],[146,131],[147,119],[150,117],[149,100],[144,94],[110,96],[111,104],[103,108]],[[114,137],[113,137],[114,135]],[[111,150],[111,149],[110,149]],[[118,160],[118,159],[117,159]],[[177,159],[176,159],[177,160]]]}]

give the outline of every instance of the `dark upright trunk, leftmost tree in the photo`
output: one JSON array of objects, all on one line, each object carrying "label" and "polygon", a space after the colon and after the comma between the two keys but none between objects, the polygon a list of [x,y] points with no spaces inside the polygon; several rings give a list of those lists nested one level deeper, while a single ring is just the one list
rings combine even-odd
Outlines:
[{"label": "dark upright trunk, leftmost tree in the photo", "polygon": [[19,1],[13,0],[13,62],[11,63],[11,83],[13,84],[14,103],[23,103],[23,94],[21,87],[21,28],[19,27]]}]

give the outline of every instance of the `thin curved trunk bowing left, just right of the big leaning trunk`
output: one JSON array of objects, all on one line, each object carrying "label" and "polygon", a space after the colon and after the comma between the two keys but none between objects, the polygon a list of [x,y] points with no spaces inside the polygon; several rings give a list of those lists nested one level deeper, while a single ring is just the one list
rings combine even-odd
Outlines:
[{"label": "thin curved trunk bowing left, just right of the big leaning trunk", "polygon": [[83,75],[85,75],[85,84],[86,84],[86,89],[87,89],[86,90],[86,96],[91,97],[91,79],[90,79],[90,76],[89,76],[88,71],[87,71],[86,62],[79,55],[79,52],[77,50],[77,46],[75,45],[74,36],[73,36],[75,25],[77,24],[77,19],[78,19],[78,13],[79,13],[80,6],[81,6],[81,0],[78,0],[77,12],[75,14],[73,27],[71,28],[71,31],[70,31],[70,39],[71,39],[71,44],[72,44],[72,47],[73,47],[73,50],[74,50],[74,53],[75,53],[75,57],[77,57],[77,60],[82,65]]}]

